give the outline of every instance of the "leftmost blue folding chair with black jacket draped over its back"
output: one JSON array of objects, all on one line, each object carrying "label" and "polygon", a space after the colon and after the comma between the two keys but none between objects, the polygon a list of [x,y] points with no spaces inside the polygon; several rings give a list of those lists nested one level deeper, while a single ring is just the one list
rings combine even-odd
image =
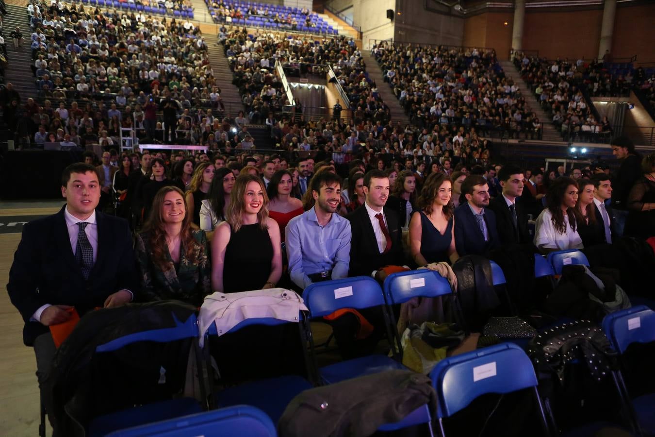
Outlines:
[{"label": "leftmost blue folding chair with black jacket draped over its back", "polygon": [[[157,343],[169,343],[181,339],[198,339],[198,323],[194,315],[189,316],[186,322],[177,322],[174,328],[162,328],[158,330],[147,330],[136,332],[119,337],[96,347],[96,352],[113,352],[127,345],[141,341],[154,341]],[[196,343],[197,344],[197,343]],[[196,352],[199,352],[196,348]],[[196,353],[196,362],[202,366],[200,354]],[[202,370],[200,370],[202,374]],[[204,381],[200,381],[200,389],[204,390]],[[204,395],[203,395],[204,396]],[[124,428],[137,427],[147,423],[170,419],[181,415],[189,415],[202,411],[201,406],[193,398],[179,398],[153,402],[144,406],[116,411],[92,419],[88,427],[88,435],[104,436],[109,432]]]}]

